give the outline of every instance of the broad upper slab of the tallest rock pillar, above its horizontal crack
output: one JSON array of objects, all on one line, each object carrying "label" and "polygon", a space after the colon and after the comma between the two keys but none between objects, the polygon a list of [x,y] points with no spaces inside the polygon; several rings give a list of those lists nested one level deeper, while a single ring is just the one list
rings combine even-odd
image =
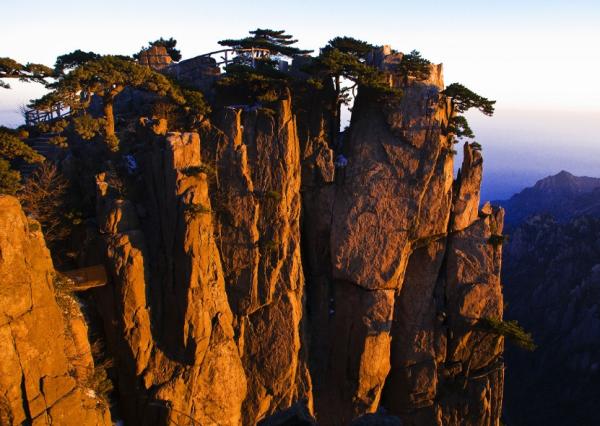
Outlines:
[{"label": "broad upper slab of the tallest rock pillar, above its horizontal crack", "polygon": [[[400,287],[410,238],[417,229],[414,217],[449,143],[441,133],[446,109],[440,106],[439,90],[433,84],[412,82],[399,104],[384,111],[377,103],[361,104],[357,99],[357,118],[347,142],[347,176],[336,192],[333,211],[336,279],[366,289]],[[444,171],[451,170],[444,161],[441,164]],[[449,191],[447,176],[442,176],[441,187]],[[440,201],[449,208],[447,197]]]}]

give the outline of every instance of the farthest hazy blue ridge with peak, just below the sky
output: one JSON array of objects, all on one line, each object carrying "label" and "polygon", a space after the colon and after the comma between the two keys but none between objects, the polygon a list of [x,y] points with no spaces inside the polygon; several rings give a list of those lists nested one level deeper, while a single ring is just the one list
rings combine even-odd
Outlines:
[{"label": "farthest hazy blue ridge with peak, just below the sky", "polygon": [[600,178],[574,176],[563,170],[494,204],[506,209],[509,226],[519,225],[540,213],[549,214],[561,223],[581,215],[600,216]]}]

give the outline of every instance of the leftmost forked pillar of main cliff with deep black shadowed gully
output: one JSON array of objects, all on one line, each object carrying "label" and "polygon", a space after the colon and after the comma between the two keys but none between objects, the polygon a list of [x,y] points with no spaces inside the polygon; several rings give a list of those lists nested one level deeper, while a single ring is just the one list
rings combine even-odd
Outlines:
[{"label": "leftmost forked pillar of main cliff with deep black shadowed gully", "polygon": [[118,336],[113,350],[127,417],[144,424],[193,418],[237,425],[246,377],[233,340],[208,178],[199,169],[199,136],[157,138],[145,161],[146,223],[136,228],[133,204],[110,191],[99,194],[98,204],[112,275],[98,299],[105,327]]}]

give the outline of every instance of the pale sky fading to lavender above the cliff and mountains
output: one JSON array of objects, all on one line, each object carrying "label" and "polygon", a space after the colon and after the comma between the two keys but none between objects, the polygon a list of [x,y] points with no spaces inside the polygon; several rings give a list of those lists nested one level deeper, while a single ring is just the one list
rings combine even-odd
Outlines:
[{"label": "pale sky fading to lavender above the cliff and mountains", "polygon": [[[497,100],[494,117],[469,115],[484,146],[484,196],[562,169],[600,176],[598,0],[29,0],[2,11],[0,56],[48,65],[75,49],[132,54],[161,36],[189,58],[257,27],[286,29],[309,49],[337,35],[417,49],[444,64],[447,84]],[[19,106],[42,91],[11,86],[0,92],[0,124],[15,126]]]}]

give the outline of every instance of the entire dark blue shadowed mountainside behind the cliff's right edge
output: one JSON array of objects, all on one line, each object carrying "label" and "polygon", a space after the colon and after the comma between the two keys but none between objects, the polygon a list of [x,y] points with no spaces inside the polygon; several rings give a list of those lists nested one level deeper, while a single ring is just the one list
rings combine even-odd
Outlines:
[{"label": "entire dark blue shadowed mountainside behind the cliff's right edge", "polygon": [[505,420],[600,424],[600,179],[562,171],[499,204],[506,318],[538,345],[506,352]]}]

